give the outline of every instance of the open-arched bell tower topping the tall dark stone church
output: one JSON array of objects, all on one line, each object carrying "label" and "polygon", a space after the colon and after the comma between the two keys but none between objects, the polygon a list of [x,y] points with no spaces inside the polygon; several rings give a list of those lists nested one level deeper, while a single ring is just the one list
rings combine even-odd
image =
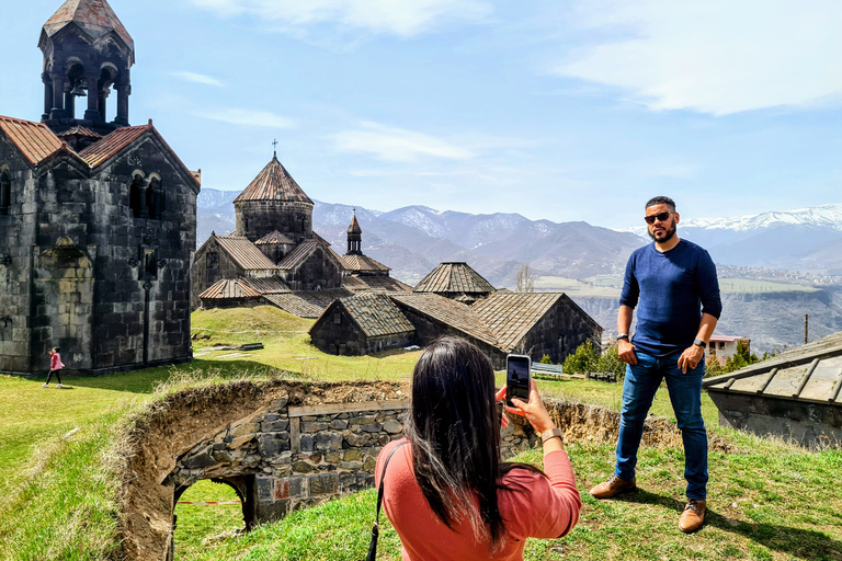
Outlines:
[{"label": "open-arched bell tower topping the tall dark stone church", "polygon": [[[135,42],[106,0],[67,0],[44,24],[38,48],[44,53],[41,121],[53,131],[82,126],[105,135],[128,125]],[[116,111],[109,122],[112,90]],[[77,98],[87,100],[81,118]]]}]

